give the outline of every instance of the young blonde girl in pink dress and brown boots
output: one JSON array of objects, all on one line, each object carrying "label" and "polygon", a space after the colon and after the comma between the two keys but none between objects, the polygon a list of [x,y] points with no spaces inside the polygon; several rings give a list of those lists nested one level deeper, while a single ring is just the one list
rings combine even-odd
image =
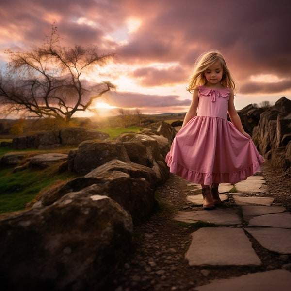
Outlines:
[{"label": "young blonde girl in pink dress and brown boots", "polygon": [[192,102],[166,162],[171,173],[201,184],[203,207],[213,209],[221,203],[219,183],[245,180],[261,170],[263,158],[242,127],[235,82],[219,52],[198,58],[187,90]]}]

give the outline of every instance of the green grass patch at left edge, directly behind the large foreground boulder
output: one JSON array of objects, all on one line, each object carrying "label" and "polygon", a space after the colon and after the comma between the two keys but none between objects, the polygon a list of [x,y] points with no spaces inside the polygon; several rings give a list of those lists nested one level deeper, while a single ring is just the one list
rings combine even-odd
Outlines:
[{"label": "green grass patch at left edge, directly behind the large foreground boulder", "polygon": [[44,170],[26,169],[13,173],[13,168],[0,169],[0,213],[24,210],[37,194],[59,180],[70,180],[76,175],[58,173],[59,164]]}]

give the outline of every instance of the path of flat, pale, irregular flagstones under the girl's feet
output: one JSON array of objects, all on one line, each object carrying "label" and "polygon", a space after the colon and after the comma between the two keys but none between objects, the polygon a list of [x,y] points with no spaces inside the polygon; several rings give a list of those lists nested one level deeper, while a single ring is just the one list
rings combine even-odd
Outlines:
[{"label": "path of flat, pale, irregular flagstones under the girl's feet", "polygon": [[[199,185],[191,183],[197,189]],[[235,184],[220,185],[221,199],[234,199],[237,209],[180,211],[175,219],[187,223],[203,221],[218,227],[202,227],[192,234],[185,254],[190,266],[259,266],[261,260],[250,241],[253,237],[269,251],[279,255],[291,254],[291,213],[273,205],[274,198],[261,197],[267,193],[261,176],[249,177]],[[236,191],[236,192],[232,192]],[[189,195],[188,201],[201,205],[202,195]],[[215,279],[210,284],[195,287],[197,291],[289,291],[291,272],[272,270],[228,279]]]}]

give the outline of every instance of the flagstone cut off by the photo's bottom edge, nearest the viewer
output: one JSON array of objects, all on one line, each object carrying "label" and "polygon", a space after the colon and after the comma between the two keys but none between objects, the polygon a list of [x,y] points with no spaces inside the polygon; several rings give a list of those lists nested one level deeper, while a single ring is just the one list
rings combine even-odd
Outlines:
[{"label": "flagstone cut off by the photo's bottom edge, nearest the viewer", "polygon": [[213,280],[210,284],[195,287],[196,291],[290,291],[291,272],[272,270]]}]

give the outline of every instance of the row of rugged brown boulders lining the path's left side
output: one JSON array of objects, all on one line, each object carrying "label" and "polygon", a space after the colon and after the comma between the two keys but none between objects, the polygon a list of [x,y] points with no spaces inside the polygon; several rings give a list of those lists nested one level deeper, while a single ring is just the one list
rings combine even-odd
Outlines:
[{"label": "row of rugged brown boulders lining the path's left side", "polygon": [[19,163],[27,153],[5,155],[2,166],[41,170],[58,162],[81,177],[51,187],[26,211],[0,215],[4,289],[102,290],[129,254],[133,225],[151,213],[155,190],[169,176],[165,155],[175,134],[160,122],[115,141],[83,141],[69,155],[30,156],[25,168]]}]

